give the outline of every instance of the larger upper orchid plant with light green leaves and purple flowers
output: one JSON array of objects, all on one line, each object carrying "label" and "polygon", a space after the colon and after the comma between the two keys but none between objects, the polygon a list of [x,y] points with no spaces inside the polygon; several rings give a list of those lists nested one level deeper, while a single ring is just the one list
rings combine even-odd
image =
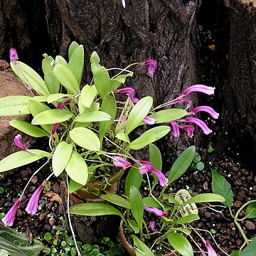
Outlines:
[{"label": "larger upper orchid plant with light green leaves and purple flowers", "polygon": [[[149,168],[151,165],[144,159],[134,159],[130,151],[142,150],[169,132],[178,137],[180,130],[185,130],[189,137],[193,137],[194,124],[201,127],[204,134],[209,134],[211,130],[207,124],[193,117],[198,112],[207,112],[211,117],[218,118],[212,107],[193,107],[189,99],[192,92],[213,95],[213,87],[191,85],[175,99],[156,107],[153,107],[151,96],[138,99],[132,87],[120,88],[127,79],[132,79],[131,68],[135,65],[148,66],[149,75],[153,76],[155,60],[132,63],[126,68],[107,69],[100,65],[99,56],[93,52],[90,56],[92,80],[86,84],[82,83],[82,45],[71,43],[68,60],[60,55],[53,58],[43,54],[43,57],[41,78],[35,70],[19,61],[16,50],[11,48],[11,68],[35,96],[11,95],[0,99],[0,116],[31,114],[33,117],[31,122],[13,119],[9,123],[11,127],[31,137],[48,139],[47,150],[28,149],[22,142],[21,134],[17,134],[14,144],[21,151],[0,161],[0,172],[39,159],[46,159],[43,166],[50,164],[50,175],[28,202],[26,211],[31,215],[36,213],[40,193],[53,175],[60,176],[67,183],[69,193],[95,196],[111,188],[133,161],[141,171],[151,171],[160,185],[166,186],[169,179],[161,170]],[[116,73],[111,77],[113,72]],[[146,132],[132,137],[131,134],[141,126]],[[13,225],[25,190],[2,219],[6,225]]]}]

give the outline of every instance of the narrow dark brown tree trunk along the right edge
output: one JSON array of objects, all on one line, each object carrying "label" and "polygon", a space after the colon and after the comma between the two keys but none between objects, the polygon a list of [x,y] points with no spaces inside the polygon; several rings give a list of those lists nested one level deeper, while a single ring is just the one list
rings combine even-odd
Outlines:
[{"label": "narrow dark brown tree trunk along the right edge", "polygon": [[256,1],[230,6],[228,81],[223,87],[224,118],[239,151],[256,156]]}]

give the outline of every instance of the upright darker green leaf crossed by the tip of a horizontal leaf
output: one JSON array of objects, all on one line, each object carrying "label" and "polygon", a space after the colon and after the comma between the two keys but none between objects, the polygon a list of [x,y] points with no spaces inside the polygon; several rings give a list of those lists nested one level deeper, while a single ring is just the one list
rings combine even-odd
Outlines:
[{"label": "upright darker green leaf crossed by the tip of a horizontal leaf", "polygon": [[106,134],[106,132],[109,131],[111,125],[114,122],[114,118],[116,117],[116,114],[117,114],[117,102],[114,98],[113,92],[108,92],[107,95],[104,97],[104,99],[102,100],[102,105],[100,110],[106,112],[107,114],[110,114],[110,117],[112,117],[112,119],[109,122],[102,122],[99,124],[100,141],[102,142],[104,135]]}]

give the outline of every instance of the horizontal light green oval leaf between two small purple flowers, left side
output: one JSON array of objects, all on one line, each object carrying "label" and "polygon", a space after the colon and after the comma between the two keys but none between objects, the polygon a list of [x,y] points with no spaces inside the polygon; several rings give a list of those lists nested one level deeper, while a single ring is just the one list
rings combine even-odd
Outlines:
[{"label": "horizontal light green oval leaf between two small purple flowers, left side", "polygon": [[36,115],[31,124],[56,124],[67,121],[73,116],[69,110],[46,110]]}]

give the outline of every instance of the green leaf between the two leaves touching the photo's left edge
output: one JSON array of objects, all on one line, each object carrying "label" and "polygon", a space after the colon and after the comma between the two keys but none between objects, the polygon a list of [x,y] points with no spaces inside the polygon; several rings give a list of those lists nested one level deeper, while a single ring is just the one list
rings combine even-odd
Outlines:
[{"label": "green leaf between the two leaves touching the photo's left edge", "polygon": [[11,120],[11,122],[9,122],[9,124],[11,125],[11,127],[14,127],[16,129],[20,130],[21,132],[28,134],[29,136],[32,136],[32,137],[39,138],[39,137],[49,137],[50,136],[50,134],[48,134],[43,129],[36,127],[33,124],[29,124],[27,122],[19,120],[19,119],[13,119],[13,120]]}]

